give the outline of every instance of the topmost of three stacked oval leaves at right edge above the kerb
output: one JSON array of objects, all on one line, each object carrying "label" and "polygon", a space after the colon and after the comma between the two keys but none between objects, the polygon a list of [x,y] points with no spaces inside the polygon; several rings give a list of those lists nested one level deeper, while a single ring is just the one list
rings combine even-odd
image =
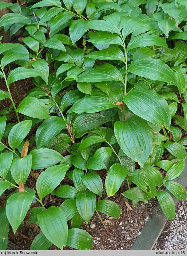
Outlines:
[{"label": "topmost of three stacked oval leaves at right edge above the kerb", "polygon": [[187,156],[184,147],[177,142],[166,142],[164,144],[164,147],[167,149],[168,152],[170,152],[170,154],[179,159],[184,159]]}]

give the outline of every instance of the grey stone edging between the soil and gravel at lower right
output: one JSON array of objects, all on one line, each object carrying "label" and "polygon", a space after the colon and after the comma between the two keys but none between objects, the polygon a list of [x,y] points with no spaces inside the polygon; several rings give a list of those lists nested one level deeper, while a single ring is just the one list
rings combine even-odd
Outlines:
[{"label": "grey stone edging between the soil and gravel at lower right", "polygon": [[[182,186],[187,186],[187,159],[185,160],[184,170],[180,179],[176,178],[173,181],[182,184]],[[167,192],[169,192],[166,189]],[[171,193],[170,193],[171,195]],[[174,199],[175,205],[179,201],[175,196],[171,195]],[[155,209],[152,211],[153,217],[146,222],[146,225],[141,230],[141,235],[138,236],[132,244],[130,250],[152,250],[156,244],[168,218],[163,214],[160,205],[155,206]]]}]

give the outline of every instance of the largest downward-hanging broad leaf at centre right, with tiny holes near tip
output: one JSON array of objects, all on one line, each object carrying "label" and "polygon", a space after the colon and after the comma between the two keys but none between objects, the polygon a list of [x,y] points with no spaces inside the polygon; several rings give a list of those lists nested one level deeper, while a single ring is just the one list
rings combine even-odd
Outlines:
[{"label": "largest downward-hanging broad leaf at centre right, with tiny holes near tip", "polygon": [[147,122],[138,116],[132,116],[127,122],[116,121],[114,133],[123,152],[143,167],[152,147],[152,135]]}]

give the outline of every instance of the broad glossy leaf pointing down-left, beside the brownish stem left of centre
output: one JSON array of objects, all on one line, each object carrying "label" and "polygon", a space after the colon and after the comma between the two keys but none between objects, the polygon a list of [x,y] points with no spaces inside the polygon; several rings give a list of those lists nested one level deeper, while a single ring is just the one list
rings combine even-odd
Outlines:
[{"label": "broad glossy leaf pointing down-left, beside the brownish stem left of centre", "polygon": [[52,138],[60,133],[65,125],[66,121],[63,121],[63,119],[58,116],[51,116],[49,119],[45,119],[36,131],[37,148],[46,146]]}]

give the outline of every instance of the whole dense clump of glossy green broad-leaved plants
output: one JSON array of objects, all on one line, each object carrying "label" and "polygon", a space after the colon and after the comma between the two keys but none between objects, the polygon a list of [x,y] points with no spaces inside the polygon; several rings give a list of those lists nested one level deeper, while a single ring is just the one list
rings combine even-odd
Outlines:
[{"label": "whole dense clump of glossy green broad-leaved plants", "polygon": [[[0,27],[22,31],[21,43],[0,44],[0,100],[12,103],[0,111],[1,195],[10,190],[0,207],[0,249],[9,224],[15,233],[28,211],[41,229],[30,249],[91,249],[81,224],[95,212],[118,218],[110,197],[124,184],[135,207],[156,197],[173,219],[163,188],[186,199],[172,180],[187,156],[187,1],[28,0],[0,8],[10,10]],[[34,88],[15,102],[10,88],[17,92],[23,79]],[[35,189],[27,187],[30,174]],[[44,206],[48,194],[61,205]],[[30,208],[36,200],[40,207]]]}]

